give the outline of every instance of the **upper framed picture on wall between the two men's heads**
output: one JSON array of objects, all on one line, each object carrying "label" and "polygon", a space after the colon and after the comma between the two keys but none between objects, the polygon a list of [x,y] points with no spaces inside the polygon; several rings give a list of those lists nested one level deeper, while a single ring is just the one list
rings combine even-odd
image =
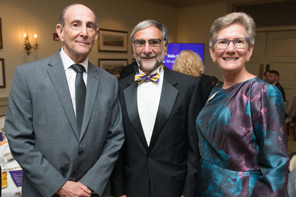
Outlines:
[{"label": "upper framed picture on wall between the two men's heads", "polygon": [[98,50],[99,52],[127,53],[127,42],[127,32],[100,29],[98,39]]}]

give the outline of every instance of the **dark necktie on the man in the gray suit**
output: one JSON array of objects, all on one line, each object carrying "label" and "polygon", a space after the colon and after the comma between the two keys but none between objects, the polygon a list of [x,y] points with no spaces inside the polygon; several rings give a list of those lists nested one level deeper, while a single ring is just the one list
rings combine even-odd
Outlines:
[{"label": "dark necktie on the man in the gray suit", "polygon": [[79,132],[81,131],[82,121],[83,121],[83,113],[84,113],[84,105],[85,105],[85,95],[86,95],[86,87],[83,81],[83,71],[84,66],[74,64],[71,66],[76,72],[75,78],[75,106],[76,106],[76,120]]}]

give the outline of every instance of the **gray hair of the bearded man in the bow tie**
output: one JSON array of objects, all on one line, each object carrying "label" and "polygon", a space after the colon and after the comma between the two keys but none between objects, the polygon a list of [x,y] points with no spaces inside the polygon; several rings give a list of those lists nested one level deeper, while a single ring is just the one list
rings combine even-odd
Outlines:
[{"label": "gray hair of the bearded man in the bow tie", "polygon": [[154,26],[155,28],[157,28],[158,30],[160,30],[162,32],[162,39],[164,39],[163,45],[168,43],[170,35],[169,35],[167,28],[165,27],[165,25],[158,23],[155,20],[142,21],[138,25],[136,25],[136,27],[133,29],[133,31],[131,33],[131,42],[133,41],[134,35],[136,32],[138,32],[140,30],[144,30],[145,28],[148,28],[150,26]]}]

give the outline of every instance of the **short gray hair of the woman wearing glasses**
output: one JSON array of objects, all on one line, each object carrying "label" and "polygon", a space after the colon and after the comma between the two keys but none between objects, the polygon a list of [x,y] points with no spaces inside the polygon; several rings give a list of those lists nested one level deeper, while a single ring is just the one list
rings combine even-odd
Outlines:
[{"label": "short gray hair of the woman wearing glasses", "polygon": [[255,44],[256,26],[253,18],[242,12],[232,12],[214,21],[210,29],[210,43],[209,45],[214,48],[217,33],[231,24],[239,24],[246,28],[246,37],[250,39],[251,44]]}]

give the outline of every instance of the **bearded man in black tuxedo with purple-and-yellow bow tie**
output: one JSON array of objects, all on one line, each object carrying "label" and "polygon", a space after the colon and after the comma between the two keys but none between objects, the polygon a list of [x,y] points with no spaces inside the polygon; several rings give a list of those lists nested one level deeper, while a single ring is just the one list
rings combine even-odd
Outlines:
[{"label": "bearded man in black tuxedo with purple-and-yellow bow tie", "polygon": [[154,20],[131,33],[139,72],[119,81],[125,142],[111,175],[114,197],[195,197],[200,82],[162,62],[169,33]]}]

